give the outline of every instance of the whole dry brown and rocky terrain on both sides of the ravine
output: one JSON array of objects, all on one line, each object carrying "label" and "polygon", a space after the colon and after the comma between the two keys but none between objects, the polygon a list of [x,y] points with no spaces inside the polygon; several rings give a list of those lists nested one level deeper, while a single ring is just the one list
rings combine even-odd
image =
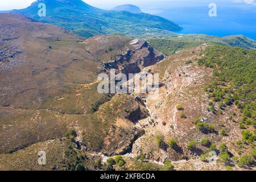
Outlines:
[{"label": "whole dry brown and rocky terrain on both sides of the ravine", "polygon": [[[136,45],[114,35],[85,40],[17,14],[0,14],[0,32],[0,49],[22,50],[13,57],[5,53],[9,57],[0,64],[0,170],[73,169],[80,155],[95,169],[102,155],[127,152],[133,158],[124,155],[126,163],[117,169],[156,170],[170,160],[177,170],[225,170],[224,163],[211,166],[199,159],[209,152],[202,138],[216,147],[225,143],[238,157],[253,148],[237,144],[242,138],[237,106],[218,112],[204,90],[212,69],[195,60],[206,45],[160,61],[162,53],[143,40]],[[109,68],[159,73],[159,96],[140,94],[142,103],[136,94],[99,94],[97,73]],[[216,112],[209,110],[210,101]],[[65,136],[71,129],[76,134]],[[175,146],[168,146],[170,139]],[[197,144],[189,150],[192,140]],[[36,164],[40,150],[47,152],[46,166]],[[142,155],[144,161],[137,160]]]}]

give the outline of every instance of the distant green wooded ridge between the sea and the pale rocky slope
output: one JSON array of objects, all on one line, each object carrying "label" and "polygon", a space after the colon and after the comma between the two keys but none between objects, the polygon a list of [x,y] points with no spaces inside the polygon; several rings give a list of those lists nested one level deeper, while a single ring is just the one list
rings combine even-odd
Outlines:
[{"label": "distant green wooded ridge between the sea and the pale rocky slope", "polygon": [[243,35],[226,36],[218,38],[217,36],[208,35],[181,35],[173,38],[151,38],[147,41],[158,51],[172,55],[177,51],[185,48],[192,48],[207,43],[210,45],[225,45],[232,47],[241,47],[246,49],[255,49],[256,41]]}]

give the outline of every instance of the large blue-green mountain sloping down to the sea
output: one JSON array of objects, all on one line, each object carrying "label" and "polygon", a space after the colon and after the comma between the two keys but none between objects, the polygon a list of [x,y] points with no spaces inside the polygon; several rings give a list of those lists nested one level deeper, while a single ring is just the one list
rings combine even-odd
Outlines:
[{"label": "large blue-green mountain sloping down to the sea", "polygon": [[[46,4],[46,17],[39,17],[38,4]],[[130,37],[172,36],[181,27],[160,16],[127,11],[108,11],[90,6],[81,0],[39,0],[22,10],[14,10],[44,23],[56,24],[89,38],[99,34]]]}]

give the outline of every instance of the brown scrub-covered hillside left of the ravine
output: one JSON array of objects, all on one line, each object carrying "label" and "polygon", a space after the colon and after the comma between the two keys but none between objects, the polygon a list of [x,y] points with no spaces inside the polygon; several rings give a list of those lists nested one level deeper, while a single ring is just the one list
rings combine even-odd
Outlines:
[{"label": "brown scrub-covered hillside left of the ravine", "polygon": [[[20,14],[1,14],[0,22],[0,48],[22,50],[13,57],[5,53],[9,57],[0,65],[4,68],[0,71],[1,169],[55,167],[63,159],[61,155],[56,159],[55,154],[68,147],[59,140],[70,129],[77,133],[73,142],[79,152],[111,155],[130,150],[131,143],[143,134],[135,124],[147,117],[147,110],[133,96],[99,94],[97,73],[108,72],[102,63],[126,54],[126,63],[118,62],[118,67],[130,63],[143,68],[143,60],[159,61],[159,52],[144,41],[132,46],[131,39],[121,36],[85,40]],[[10,63],[15,64],[10,67]],[[46,148],[51,163],[40,168],[35,159],[45,145],[51,147]]]}]

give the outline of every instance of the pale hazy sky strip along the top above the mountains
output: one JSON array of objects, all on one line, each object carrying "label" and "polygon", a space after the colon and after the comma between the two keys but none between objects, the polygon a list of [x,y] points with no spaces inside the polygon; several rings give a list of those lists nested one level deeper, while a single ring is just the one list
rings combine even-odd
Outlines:
[{"label": "pale hazy sky strip along the top above the mountains", "polygon": [[[11,10],[11,9],[22,9],[30,6],[35,0],[0,0],[0,10]],[[142,10],[154,9],[154,7],[170,6],[195,6],[199,5],[200,2],[207,0],[83,0],[92,6],[100,7],[101,9],[111,9],[117,5],[133,4],[141,7]],[[211,0],[210,2],[239,2],[246,3],[249,5],[256,5],[256,0]]]}]

